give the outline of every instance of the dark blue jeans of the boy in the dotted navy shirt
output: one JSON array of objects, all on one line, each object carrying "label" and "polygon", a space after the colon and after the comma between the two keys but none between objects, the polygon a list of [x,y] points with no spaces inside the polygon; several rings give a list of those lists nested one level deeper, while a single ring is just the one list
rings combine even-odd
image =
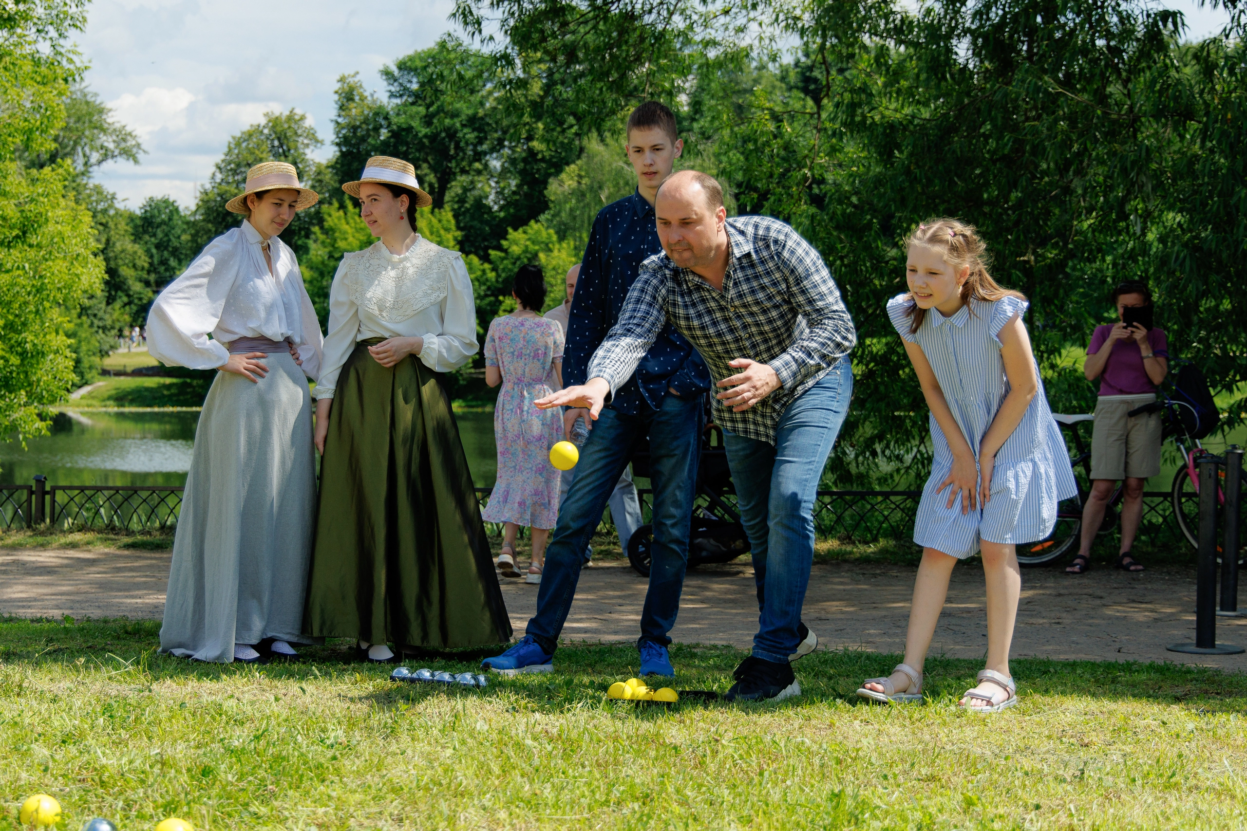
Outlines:
[{"label": "dark blue jeans of the boy in the dotted navy shirt", "polygon": [[606,501],[632,461],[632,452],[647,435],[653,485],[653,544],[638,643],[652,640],[663,647],[671,643],[667,633],[676,625],[680,592],[688,568],[701,426],[701,396],[680,399],[668,394],[657,412],[640,415],[602,409],[580,449],[576,478],[559,508],[559,525],[541,571],[537,613],[529,620],[527,634],[547,653],[557,648],[559,634],[571,610],[585,547],[602,521]]}]

